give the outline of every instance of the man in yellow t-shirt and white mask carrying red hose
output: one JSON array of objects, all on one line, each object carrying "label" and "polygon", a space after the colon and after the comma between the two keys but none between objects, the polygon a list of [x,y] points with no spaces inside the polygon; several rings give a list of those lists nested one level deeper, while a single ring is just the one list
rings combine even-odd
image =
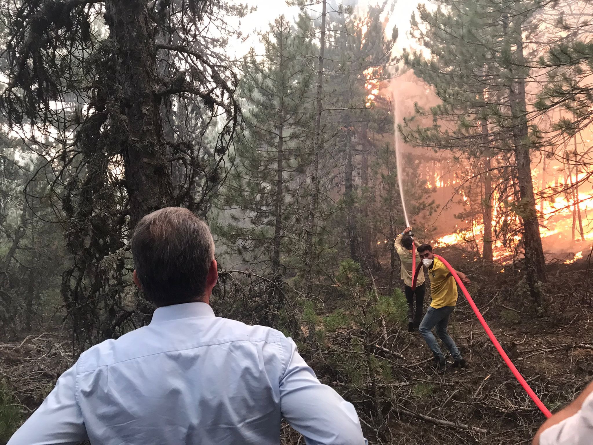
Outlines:
[{"label": "man in yellow t-shirt and white mask carrying red hose", "polygon": [[[421,244],[417,247],[423,265],[428,268],[428,277],[431,280],[431,306],[426,311],[426,315],[420,323],[420,335],[424,338],[428,347],[431,348],[432,354],[435,356],[435,368],[437,371],[444,371],[447,367],[445,355],[441,351],[436,338],[432,333],[432,328],[436,326],[436,333],[441,341],[445,344],[455,363],[454,367],[466,367],[466,360],[461,357],[457,345],[447,332],[447,325],[449,324],[449,317],[455,309],[457,304],[457,283],[451,271],[432,253],[432,246],[430,244]],[[457,272],[461,281],[465,284],[470,284],[470,280],[462,272]]]}]

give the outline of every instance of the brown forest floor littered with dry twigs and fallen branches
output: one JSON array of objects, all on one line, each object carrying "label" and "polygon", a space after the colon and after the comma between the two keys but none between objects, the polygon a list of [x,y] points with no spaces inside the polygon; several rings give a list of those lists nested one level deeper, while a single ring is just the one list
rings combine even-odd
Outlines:
[{"label": "brown forest floor littered with dry twigs and fallen branches", "polygon": [[[477,270],[459,267],[470,276],[477,275]],[[575,293],[571,301],[565,301],[565,310],[550,307],[549,316],[537,318],[522,312],[523,303],[513,300],[512,279],[493,277],[484,279],[482,285],[477,279],[470,291],[509,357],[555,411],[593,376],[593,332],[589,329],[593,310],[579,303],[586,295]],[[384,280],[383,275],[377,278],[380,290],[386,287]],[[361,392],[326,375],[319,358],[311,364],[324,383],[355,404],[365,433],[374,436],[374,443],[529,443],[544,421],[543,414],[502,362],[463,297],[449,329],[470,366],[464,370],[448,367],[442,376],[429,367],[430,352],[417,332],[400,329],[388,344],[375,345],[373,353],[389,360],[393,373],[390,383],[379,388],[382,400],[388,400],[384,405],[388,408],[381,413],[387,426],[381,431],[376,429],[377,419],[368,417],[372,400],[353,399],[353,393]],[[73,361],[65,336],[51,332],[26,335],[20,341],[0,343],[0,380],[8,384],[26,418]],[[282,437],[285,444],[304,443],[286,427]]]}]

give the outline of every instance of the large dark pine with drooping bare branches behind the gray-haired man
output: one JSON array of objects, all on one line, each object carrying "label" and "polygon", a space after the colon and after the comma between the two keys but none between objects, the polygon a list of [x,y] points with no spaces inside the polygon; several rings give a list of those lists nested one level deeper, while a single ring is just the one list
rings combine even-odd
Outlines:
[{"label": "large dark pine with drooping bare branches behind the gray-haired man", "polygon": [[[246,10],[212,0],[3,6],[12,39],[0,106],[28,144],[44,141],[40,154],[56,172],[55,205],[74,257],[62,298],[83,345],[126,329],[125,241],[135,224],[168,205],[208,211],[240,119],[237,77],[221,51],[232,34],[226,20]],[[213,37],[208,28],[217,26]],[[117,287],[99,266],[105,259],[116,259]],[[147,311],[140,304],[131,313],[144,323]],[[98,333],[85,326],[97,317]]]}]

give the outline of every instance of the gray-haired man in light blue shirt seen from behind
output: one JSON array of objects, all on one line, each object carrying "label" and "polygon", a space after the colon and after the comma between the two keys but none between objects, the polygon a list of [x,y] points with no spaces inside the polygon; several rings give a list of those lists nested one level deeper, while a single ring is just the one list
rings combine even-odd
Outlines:
[{"label": "gray-haired man in light blue shirt seen from behind", "polygon": [[308,445],[365,444],[291,338],[215,316],[214,243],[196,215],[146,215],[132,255],[151,323],[85,351],[8,445],[279,444],[282,418]]}]

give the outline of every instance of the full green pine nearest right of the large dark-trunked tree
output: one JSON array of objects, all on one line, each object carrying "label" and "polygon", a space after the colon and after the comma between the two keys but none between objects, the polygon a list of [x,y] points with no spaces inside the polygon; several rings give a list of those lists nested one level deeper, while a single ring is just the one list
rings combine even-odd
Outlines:
[{"label": "full green pine nearest right of the large dark-trunked tree", "polygon": [[[279,278],[299,249],[302,221],[296,204],[299,177],[310,146],[314,72],[304,56],[313,45],[304,17],[295,28],[284,16],[263,34],[260,60],[251,49],[243,61],[240,92],[246,101],[245,130],[231,154],[229,182],[221,203],[235,211],[234,222],[219,226],[231,251]],[[294,261],[294,259],[293,259]]]}]

